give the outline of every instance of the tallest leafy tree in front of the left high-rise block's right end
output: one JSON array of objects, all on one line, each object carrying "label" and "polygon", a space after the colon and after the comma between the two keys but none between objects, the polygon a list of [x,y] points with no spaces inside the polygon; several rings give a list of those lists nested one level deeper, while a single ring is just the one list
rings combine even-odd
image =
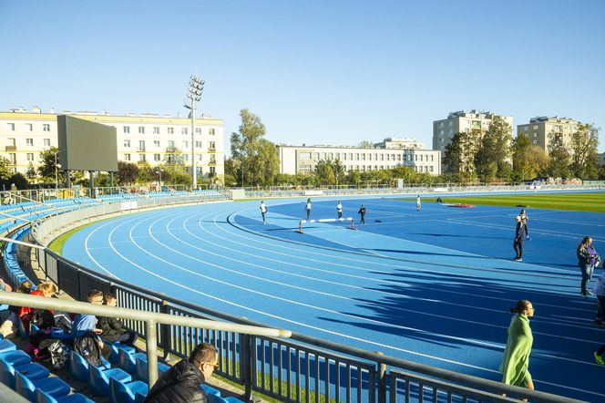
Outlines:
[{"label": "tallest leafy tree in front of the left high-rise block's right end", "polygon": [[512,140],[512,129],[505,120],[498,119],[489,124],[475,154],[475,167],[482,181],[508,179]]}]

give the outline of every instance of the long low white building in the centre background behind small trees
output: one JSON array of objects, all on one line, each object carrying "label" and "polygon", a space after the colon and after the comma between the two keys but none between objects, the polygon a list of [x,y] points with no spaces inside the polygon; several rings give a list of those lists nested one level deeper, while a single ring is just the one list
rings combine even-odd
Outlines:
[{"label": "long low white building in the centre background behind small trees", "polygon": [[[413,141],[415,144],[421,144]],[[280,173],[294,175],[315,171],[320,160],[340,160],[344,171],[380,171],[395,167],[411,167],[416,172],[441,174],[441,152],[437,150],[402,149],[397,139],[385,139],[389,148],[348,146],[277,146]]]}]

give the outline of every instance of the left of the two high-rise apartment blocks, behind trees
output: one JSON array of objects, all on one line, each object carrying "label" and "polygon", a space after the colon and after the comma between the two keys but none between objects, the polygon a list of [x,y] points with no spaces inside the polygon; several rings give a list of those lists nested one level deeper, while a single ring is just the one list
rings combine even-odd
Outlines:
[{"label": "left of the two high-rise apartment blocks, behind trees", "polygon": [[447,115],[447,119],[433,121],[433,150],[446,151],[446,145],[456,133],[475,131],[484,133],[489,124],[495,120],[504,120],[513,128],[513,117],[496,115],[491,112],[459,110]]}]

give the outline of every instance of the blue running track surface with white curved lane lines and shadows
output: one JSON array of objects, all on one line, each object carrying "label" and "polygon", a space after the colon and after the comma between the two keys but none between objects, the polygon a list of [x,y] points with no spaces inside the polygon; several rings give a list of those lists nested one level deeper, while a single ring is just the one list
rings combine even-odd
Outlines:
[{"label": "blue running track surface with white curved lane lines and shadows", "polygon": [[[603,214],[528,209],[524,262],[513,262],[518,208],[464,209],[393,198],[342,199],[347,223],[308,223],[304,200],[225,202],[140,212],[74,234],[64,255],[192,303],[477,377],[497,368],[518,299],[536,307],[529,370],[537,389],[605,401],[595,298],[579,295],[576,245],[605,255]],[[365,225],[357,211],[367,208]],[[312,218],[335,218],[336,201]],[[596,274],[601,274],[599,268]]]}]

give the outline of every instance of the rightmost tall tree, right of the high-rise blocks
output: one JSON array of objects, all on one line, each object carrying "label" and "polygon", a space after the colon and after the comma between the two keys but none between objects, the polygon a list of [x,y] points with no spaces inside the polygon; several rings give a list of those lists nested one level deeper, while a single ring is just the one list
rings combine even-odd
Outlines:
[{"label": "rightmost tall tree, right of the high-rise blocks", "polygon": [[579,125],[571,134],[571,173],[582,179],[596,179],[599,148],[599,129],[591,124]]}]

